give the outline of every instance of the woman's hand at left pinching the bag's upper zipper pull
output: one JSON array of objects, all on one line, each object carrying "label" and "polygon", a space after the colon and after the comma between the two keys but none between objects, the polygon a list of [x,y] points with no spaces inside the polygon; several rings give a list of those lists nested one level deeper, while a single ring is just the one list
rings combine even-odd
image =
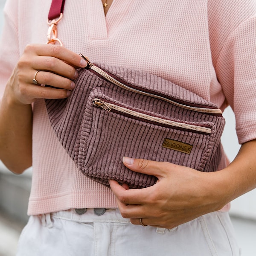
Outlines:
[{"label": "woman's hand at left pinching the bag's upper zipper pull", "polygon": [[[63,99],[75,87],[76,68],[87,62],[78,54],[53,44],[29,44],[9,80],[11,97],[17,104],[28,105],[35,99]],[[38,84],[33,83],[35,73]],[[47,84],[52,87],[43,87]],[[10,90],[9,90],[10,92]],[[10,96],[10,95],[9,95]]]}]

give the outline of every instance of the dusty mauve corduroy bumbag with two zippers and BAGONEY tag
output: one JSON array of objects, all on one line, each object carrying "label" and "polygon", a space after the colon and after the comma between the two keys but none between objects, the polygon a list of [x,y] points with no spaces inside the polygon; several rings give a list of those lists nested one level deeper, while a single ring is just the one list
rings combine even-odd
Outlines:
[{"label": "dusty mauve corduroy bumbag with two zippers and BAGONEY tag", "polygon": [[67,99],[46,100],[49,121],[78,169],[108,186],[156,183],[122,157],[168,161],[216,171],[224,129],[221,110],[170,81],[122,67],[88,63]]}]

